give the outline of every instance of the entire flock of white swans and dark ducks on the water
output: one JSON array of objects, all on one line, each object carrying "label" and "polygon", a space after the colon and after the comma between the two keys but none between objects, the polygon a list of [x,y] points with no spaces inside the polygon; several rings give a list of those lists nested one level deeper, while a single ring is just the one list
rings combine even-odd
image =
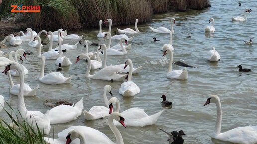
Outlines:
[{"label": "entire flock of white swans and dark ducks on the water", "polygon": [[[251,9],[244,10],[245,17],[232,17],[233,21],[244,21],[247,20],[246,12],[251,12]],[[209,23],[212,22],[211,26],[207,26],[205,28],[205,32],[215,32],[214,28],[214,18],[210,18]],[[81,53],[77,56],[75,63],[78,63],[80,60],[86,60],[87,62],[87,70],[85,77],[91,79],[99,79],[106,81],[124,81],[119,88],[119,94],[125,97],[132,97],[140,93],[140,88],[136,83],[132,81],[132,75],[140,72],[142,66],[137,68],[133,67],[133,62],[131,59],[127,59],[124,64],[119,65],[109,65],[107,66],[107,56],[123,56],[127,54],[127,50],[131,49],[131,44],[127,44],[127,42],[131,42],[134,39],[134,36],[128,37],[126,34],[135,34],[140,33],[137,23],[138,19],[135,21],[135,30],[131,28],[126,29],[118,29],[117,31],[121,34],[111,35],[111,26],[112,20],[107,19],[104,23],[109,23],[108,32],[102,32],[103,21],[99,21],[99,33],[97,34],[98,38],[107,38],[107,44],[100,44],[95,52],[88,51],[88,41],[82,41],[83,35],[78,36],[76,34],[67,35],[67,31],[63,31],[59,29],[55,32],[47,32],[42,30],[39,33],[36,33],[31,28],[26,29],[26,34],[22,31],[19,33],[22,36],[9,35],[6,36],[2,43],[9,41],[11,46],[18,46],[21,43],[28,42],[27,45],[29,47],[37,48],[37,58],[41,60],[41,70],[39,73],[38,80],[44,84],[48,85],[57,85],[57,84],[65,84],[71,83],[73,76],[64,77],[61,72],[50,72],[45,75],[45,61],[49,59],[55,60],[55,64],[59,66],[57,70],[61,71],[61,67],[73,65],[70,59],[65,56],[66,50],[73,50],[78,47],[78,45],[82,44],[86,48],[85,53]],[[186,80],[188,79],[187,67],[184,70],[172,70],[173,63],[173,51],[174,47],[172,46],[172,36],[174,34],[173,24],[175,24],[175,18],[171,19],[170,30],[165,27],[152,28],[149,27],[150,30],[157,33],[170,34],[169,43],[164,44],[160,47],[160,50],[163,51],[163,56],[169,55],[169,68],[166,74],[167,78],[170,79],[179,79]],[[40,34],[45,33],[48,37],[49,49],[45,53],[41,53],[42,42],[40,38]],[[78,41],[75,45],[63,44],[64,40],[74,40]],[[112,40],[119,40],[119,44],[111,47]],[[159,41],[154,38],[154,41]],[[53,42],[58,42],[58,47],[53,49]],[[247,42],[246,42],[247,43]],[[252,40],[248,41],[248,43],[252,44]],[[123,45],[126,44],[126,45]],[[14,55],[14,58],[13,58]],[[103,55],[104,59],[101,60],[100,55]],[[10,93],[13,95],[18,95],[18,106],[17,110],[20,114],[17,114],[18,120],[20,123],[23,123],[22,118],[28,121],[28,124],[31,125],[32,128],[39,130],[48,135],[50,133],[52,124],[60,124],[67,123],[73,120],[76,120],[83,112],[84,118],[86,120],[97,120],[107,118],[107,123],[115,135],[116,142],[113,142],[108,136],[103,134],[102,132],[86,127],[86,126],[71,126],[62,132],[58,133],[57,139],[52,139],[45,137],[44,140],[50,144],[124,144],[123,138],[119,130],[116,128],[117,125],[127,127],[144,127],[147,125],[153,125],[156,123],[160,115],[163,113],[164,109],[152,114],[148,115],[145,113],[144,109],[141,108],[130,108],[123,112],[120,112],[120,102],[116,97],[112,97],[110,99],[107,98],[107,93],[111,96],[112,87],[110,85],[105,85],[103,88],[103,101],[104,105],[96,105],[90,108],[88,111],[84,110],[83,106],[83,97],[80,101],[78,101],[75,105],[59,105],[50,110],[48,110],[45,114],[40,111],[29,111],[26,108],[26,104],[24,101],[24,96],[35,96],[37,95],[37,91],[40,90],[39,86],[36,86],[32,89],[29,84],[24,83],[24,75],[29,74],[28,70],[25,66],[18,62],[18,59],[22,60],[22,57],[26,58],[26,51],[23,49],[18,49],[16,51],[11,51],[8,53],[8,57],[6,58],[4,52],[0,51],[0,66],[5,66],[5,70],[2,73],[8,75],[9,83],[10,83]],[[213,47],[207,53],[207,60],[209,61],[219,61],[221,59],[219,53]],[[242,69],[242,66],[238,66],[241,71],[248,72],[251,70]],[[99,70],[94,74],[90,74],[91,70]],[[12,76],[16,76],[20,78],[20,83],[14,85],[12,81]],[[100,88],[100,87],[99,87]],[[163,101],[161,102],[164,107],[171,106],[172,102],[166,100],[166,96],[162,95],[161,97]],[[247,127],[238,127],[227,132],[221,133],[221,102],[218,96],[212,95],[210,96],[206,103],[215,103],[217,106],[217,120],[215,125],[215,133],[212,136],[215,139],[229,141],[232,143],[241,143],[241,144],[256,144],[257,143],[257,126],[247,126]],[[4,97],[0,95],[0,111],[4,106]],[[37,124],[37,125],[36,125]],[[161,129],[162,130],[162,129]],[[164,131],[164,130],[162,130]],[[165,131],[164,131],[165,132]],[[165,132],[166,133],[166,132]],[[180,134],[180,135],[179,135]],[[172,138],[174,137],[171,133],[168,134]],[[183,131],[179,131],[177,134],[182,138],[182,135],[185,135]],[[76,139],[78,138],[78,139]],[[172,142],[171,144],[183,144],[182,140],[178,142]]]}]

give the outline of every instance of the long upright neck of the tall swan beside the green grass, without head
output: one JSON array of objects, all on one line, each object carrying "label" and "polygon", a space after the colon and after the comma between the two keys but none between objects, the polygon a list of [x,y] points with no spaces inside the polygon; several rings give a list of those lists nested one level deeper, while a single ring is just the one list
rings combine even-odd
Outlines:
[{"label": "long upright neck of the tall swan beside the green grass, without head", "polygon": [[19,79],[20,79],[19,96],[18,96],[18,110],[22,114],[27,109],[26,109],[26,105],[25,105],[25,101],[24,101],[24,73],[23,73],[24,70],[20,64],[19,64],[17,71],[19,72]]}]

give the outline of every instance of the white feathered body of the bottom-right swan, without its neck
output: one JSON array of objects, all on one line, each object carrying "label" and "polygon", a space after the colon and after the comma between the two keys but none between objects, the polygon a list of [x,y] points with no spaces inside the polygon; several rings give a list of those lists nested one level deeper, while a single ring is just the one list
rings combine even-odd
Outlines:
[{"label": "white feathered body of the bottom-right swan, without its neck", "polygon": [[257,143],[257,126],[238,127],[214,137],[215,139],[240,144]]}]

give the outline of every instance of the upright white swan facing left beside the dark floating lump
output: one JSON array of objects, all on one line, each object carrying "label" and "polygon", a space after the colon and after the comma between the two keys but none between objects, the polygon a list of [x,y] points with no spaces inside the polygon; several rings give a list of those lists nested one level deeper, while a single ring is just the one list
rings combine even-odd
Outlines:
[{"label": "upright white swan facing left beside the dark floating lump", "polygon": [[173,52],[168,47],[164,47],[164,54],[162,56],[165,56],[167,53],[169,53],[169,69],[167,73],[167,78],[170,79],[179,79],[179,80],[186,80],[188,78],[187,70],[185,67],[185,70],[173,70],[172,71],[172,62],[173,62]]}]

